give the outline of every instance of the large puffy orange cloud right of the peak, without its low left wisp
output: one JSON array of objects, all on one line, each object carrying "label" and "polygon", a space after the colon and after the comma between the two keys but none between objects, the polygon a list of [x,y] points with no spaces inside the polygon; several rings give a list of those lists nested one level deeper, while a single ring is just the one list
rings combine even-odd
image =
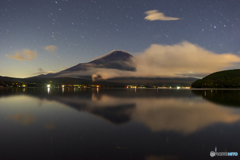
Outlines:
[{"label": "large puffy orange cloud right of the peak, without its low left wisp", "polygon": [[137,71],[144,76],[196,76],[209,74],[240,62],[231,53],[217,54],[189,42],[153,44],[136,56]]}]

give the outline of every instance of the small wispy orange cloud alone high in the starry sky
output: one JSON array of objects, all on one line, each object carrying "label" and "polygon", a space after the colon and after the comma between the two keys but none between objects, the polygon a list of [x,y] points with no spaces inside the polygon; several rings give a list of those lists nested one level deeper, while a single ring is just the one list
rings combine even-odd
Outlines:
[{"label": "small wispy orange cloud alone high in the starry sky", "polygon": [[144,19],[149,20],[149,21],[156,21],[156,20],[161,20],[161,21],[175,21],[179,20],[180,18],[175,18],[175,17],[167,17],[164,15],[162,12],[158,12],[158,10],[150,10],[145,12],[147,15]]}]

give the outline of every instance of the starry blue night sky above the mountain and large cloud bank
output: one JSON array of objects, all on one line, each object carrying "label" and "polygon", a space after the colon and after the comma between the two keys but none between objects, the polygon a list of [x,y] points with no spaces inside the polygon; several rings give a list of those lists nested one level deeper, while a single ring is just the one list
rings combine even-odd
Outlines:
[{"label": "starry blue night sky above the mountain and large cloud bank", "polygon": [[239,0],[1,0],[0,75],[57,72],[153,44],[239,56],[239,8]]}]

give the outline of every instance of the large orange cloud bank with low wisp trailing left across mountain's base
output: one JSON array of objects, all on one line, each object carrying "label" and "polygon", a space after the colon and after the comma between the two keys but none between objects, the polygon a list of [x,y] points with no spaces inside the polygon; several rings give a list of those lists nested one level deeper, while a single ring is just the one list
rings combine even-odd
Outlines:
[{"label": "large orange cloud bank with low wisp trailing left across mountain's base", "polygon": [[87,67],[84,71],[63,72],[58,77],[92,75],[92,79],[115,77],[197,77],[238,68],[240,57],[232,53],[217,54],[198,45],[182,42],[175,45],[153,44],[132,59],[136,71]]}]

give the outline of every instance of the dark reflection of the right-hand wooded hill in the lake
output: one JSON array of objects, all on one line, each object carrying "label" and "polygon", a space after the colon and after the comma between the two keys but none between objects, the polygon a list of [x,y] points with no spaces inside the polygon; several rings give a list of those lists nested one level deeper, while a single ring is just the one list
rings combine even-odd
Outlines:
[{"label": "dark reflection of the right-hand wooded hill in the lake", "polygon": [[216,104],[240,107],[240,90],[192,90],[192,93]]}]

